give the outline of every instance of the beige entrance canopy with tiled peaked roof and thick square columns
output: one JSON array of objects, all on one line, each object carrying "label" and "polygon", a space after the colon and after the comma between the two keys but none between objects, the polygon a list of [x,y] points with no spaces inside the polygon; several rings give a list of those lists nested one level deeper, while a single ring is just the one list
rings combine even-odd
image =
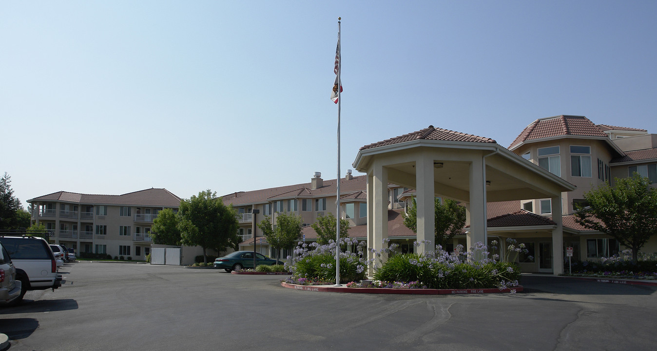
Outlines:
[{"label": "beige entrance canopy with tiled peaked roof and thick square columns", "polygon": [[434,247],[434,197],[466,204],[468,248],[487,242],[486,202],[551,199],[553,271],[563,272],[561,193],[575,186],[498,145],[495,140],[428,128],[365,145],[353,166],[367,174],[367,244],[388,237],[388,183],[417,191],[419,252]]}]

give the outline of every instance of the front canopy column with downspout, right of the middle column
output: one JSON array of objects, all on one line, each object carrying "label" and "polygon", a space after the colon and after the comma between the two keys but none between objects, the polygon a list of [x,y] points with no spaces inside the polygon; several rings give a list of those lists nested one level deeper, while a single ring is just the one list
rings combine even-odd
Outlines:
[{"label": "front canopy column with downspout, right of the middle column", "polygon": [[466,250],[475,243],[486,244],[486,206],[484,206],[484,174],[482,158],[474,158],[470,163],[470,242]]}]

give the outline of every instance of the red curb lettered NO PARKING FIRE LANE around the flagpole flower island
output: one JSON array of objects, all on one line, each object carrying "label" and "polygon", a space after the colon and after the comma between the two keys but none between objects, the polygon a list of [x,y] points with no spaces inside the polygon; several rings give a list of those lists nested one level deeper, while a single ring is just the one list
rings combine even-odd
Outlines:
[{"label": "red curb lettered NO PARKING FIRE LANE around the flagpole flower island", "polygon": [[461,295],[461,294],[499,294],[523,291],[522,285],[514,289],[388,289],[388,288],[348,288],[327,285],[296,285],[281,281],[281,287],[305,291],[323,291],[325,293],[360,293],[360,294],[406,294],[406,295]]}]

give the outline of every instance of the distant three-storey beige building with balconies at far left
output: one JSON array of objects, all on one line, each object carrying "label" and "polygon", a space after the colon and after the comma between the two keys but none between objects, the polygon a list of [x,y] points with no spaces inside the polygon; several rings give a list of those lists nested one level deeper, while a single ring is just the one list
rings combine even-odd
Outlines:
[{"label": "distant three-storey beige building with balconies at far left", "polygon": [[58,191],[28,202],[32,222],[53,231],[51,243],[64,243],[77,252],[145,260],[153,220],[164,208],[177,210],[180,200],[166,189],[145,189],[124,195]]}]

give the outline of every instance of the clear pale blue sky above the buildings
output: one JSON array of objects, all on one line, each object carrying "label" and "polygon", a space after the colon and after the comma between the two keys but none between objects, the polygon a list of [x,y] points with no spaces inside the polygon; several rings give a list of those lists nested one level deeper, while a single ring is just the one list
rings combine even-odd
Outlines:
[{"label": "clear pale blue sky above the buildings", "polygon": [[0,172],[23,203],[334,179],[338,16],[342,176],[430,124],[657,133],[657,1],[3,1]]}]

